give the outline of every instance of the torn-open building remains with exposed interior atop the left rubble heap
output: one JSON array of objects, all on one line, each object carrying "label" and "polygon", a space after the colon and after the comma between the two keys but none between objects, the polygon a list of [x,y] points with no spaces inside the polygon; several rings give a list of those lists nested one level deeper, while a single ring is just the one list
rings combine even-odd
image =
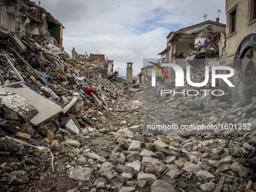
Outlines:
[{"label": "torn-open building remains with exposed interior atop the left rubble heap", "polygon": [[62,30],[65,28],[49,12],[35,2],[4,0],[0,2],[1,27],[17,35],[31,35],[35,41],[53,37],[62,46]]}]

